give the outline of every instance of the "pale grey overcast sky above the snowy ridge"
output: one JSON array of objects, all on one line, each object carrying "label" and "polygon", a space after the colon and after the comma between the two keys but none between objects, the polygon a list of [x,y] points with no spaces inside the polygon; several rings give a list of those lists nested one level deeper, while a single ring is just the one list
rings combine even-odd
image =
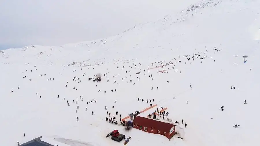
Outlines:
[{"label": "pale grey overcast sky above the snowy ridge", "polygon": [[0,50],[116,35],[197,0],[0,0]]}]

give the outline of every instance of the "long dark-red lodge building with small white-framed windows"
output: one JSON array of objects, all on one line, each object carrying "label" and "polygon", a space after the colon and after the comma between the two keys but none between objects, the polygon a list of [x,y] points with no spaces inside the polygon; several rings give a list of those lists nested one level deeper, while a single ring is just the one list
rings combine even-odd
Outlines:
[{"label": "long dark-red lodge building with small white-framed windows", "polygon": [[166,136],[169,140],[176,134],[175,125],[146,117],[136,116],[133,119],[133,128]]}]

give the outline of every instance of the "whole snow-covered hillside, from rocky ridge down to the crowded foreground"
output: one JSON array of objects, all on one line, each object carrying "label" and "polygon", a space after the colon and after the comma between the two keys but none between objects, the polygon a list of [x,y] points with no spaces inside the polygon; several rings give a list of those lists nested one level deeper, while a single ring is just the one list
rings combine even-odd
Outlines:
[{"label": "whole snow-covered hillside, from rocky ridge down to the crowded foreground", "polygon": [[[39,136],[60,146],[123,145],[106,138],[115,129],[132,137],[128,146],[257,145],[259,8],[253,0],[200,1],[114,37],[1,51],[1,145]],[[101,83],[89,80],[99,73]],[[179,122],[170,141],[106,121],[149,104]]]}]

